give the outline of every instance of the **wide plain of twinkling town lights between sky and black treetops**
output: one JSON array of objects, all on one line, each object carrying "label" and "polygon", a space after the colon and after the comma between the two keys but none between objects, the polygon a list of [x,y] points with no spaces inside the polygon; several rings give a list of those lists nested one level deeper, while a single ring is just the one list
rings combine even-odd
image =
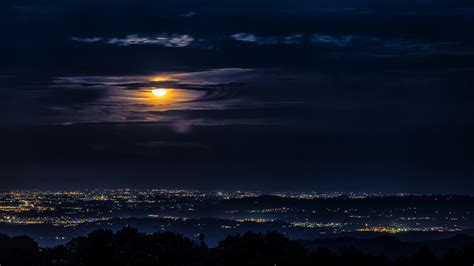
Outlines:
[{"label": "wide plain of twinkling town lights between sky and black treetops", "polygon": [[473,203],[471,196],[450,195],[21,190],[0,193],[0,227],[12,234],[30,228],[45,243],[68,240],[74,232],[89,228],[128,224],[145,231],[182,231],[191,236],[211,232],[216,239],[228,233],[265,230],[298,238],[448,233],[472,228]]}]

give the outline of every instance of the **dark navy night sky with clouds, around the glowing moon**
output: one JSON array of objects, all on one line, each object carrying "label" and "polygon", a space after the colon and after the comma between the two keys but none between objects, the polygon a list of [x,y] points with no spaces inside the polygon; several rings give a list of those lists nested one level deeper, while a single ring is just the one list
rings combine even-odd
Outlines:
[{"label": "dark navy night sky with clouds, around the glowing moon", "polygon": [[472,194],[473,32],[469,0],[2,0],[0,188]]}]

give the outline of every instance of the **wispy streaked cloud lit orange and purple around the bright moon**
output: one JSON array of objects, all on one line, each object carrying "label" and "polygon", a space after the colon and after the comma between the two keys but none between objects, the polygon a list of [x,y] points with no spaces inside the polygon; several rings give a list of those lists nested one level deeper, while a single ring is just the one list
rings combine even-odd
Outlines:
[{"label": "wispy streaked cloud lit orange and purple around the bright moon", "polygon": [[[87,98],[82,102],[76,101],[74,105],[65,102],[65,108],[56,112],[62,115],[56,115],[57,120],[74,123],[177,120],[214,123],[213,112],[255,105],[253,101],[239,97],[241,86],[235,86],[250,82],[255,78],[255,72],[253,69],[223,68],[138,76],[57,77],[50,86],[55,90],[75,92],[74,97],[78,92],[103,92],[94,101],[86,102]],[[150,90],[155,87],[166,87],[169,90],[167,96],[153,97]],[[54,107],[60,106],[60,103],[56,101]],[[265,106],[259,104],[258,107]]]}]

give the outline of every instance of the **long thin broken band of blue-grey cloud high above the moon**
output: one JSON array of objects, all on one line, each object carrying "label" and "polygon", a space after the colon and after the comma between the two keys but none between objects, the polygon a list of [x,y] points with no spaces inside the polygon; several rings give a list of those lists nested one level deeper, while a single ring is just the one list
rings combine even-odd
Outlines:
[{"label": "long thin broken band of blue-grey cloud high above the moon", "polygon": [[[473,54],[471,47],[463,47],[459,42],[422,41],[396,36],[374,36],[358,34],[328,34],[315,33],[287,33],[285,35],[259,35],[256,33],[240,32],[227,36],[238,43],[246,43],[249,47],[258,46],[288,46],[305,45],[307,49],[331,48],[337,50],[337,58],[341,56],[354,57],[394,57],[430,56],[430,55],[469,55]],[[129,34],[123,38],[79,37],[71,38],[75,42],[86,44],[101,43],[113,46],[144,46],[157,45],[167,48],[193,47],[199,49],[226,49],[228,43],[222,42],[225,37],[207,36],[194,38],[187,34],[158,33],[154,35]],[[326,53],[328,57],[332,55]]]}]

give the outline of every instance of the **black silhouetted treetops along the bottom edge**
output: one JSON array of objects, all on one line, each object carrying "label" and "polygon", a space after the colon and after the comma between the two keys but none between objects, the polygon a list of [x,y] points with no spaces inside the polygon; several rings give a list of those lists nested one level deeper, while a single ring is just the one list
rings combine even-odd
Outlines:
[{"label": "black silhouetted treetops along the bottom edge", "polygon": [[27,236],[0,235],[0,264],[6,265],[472,265],[474,245],[436,256],[421,245],[410,256],[371,255],[354,247],[309,250],[277,232],[228,236],[215,248],[175,233],[96,230],[65,245],[39,248]]}]

